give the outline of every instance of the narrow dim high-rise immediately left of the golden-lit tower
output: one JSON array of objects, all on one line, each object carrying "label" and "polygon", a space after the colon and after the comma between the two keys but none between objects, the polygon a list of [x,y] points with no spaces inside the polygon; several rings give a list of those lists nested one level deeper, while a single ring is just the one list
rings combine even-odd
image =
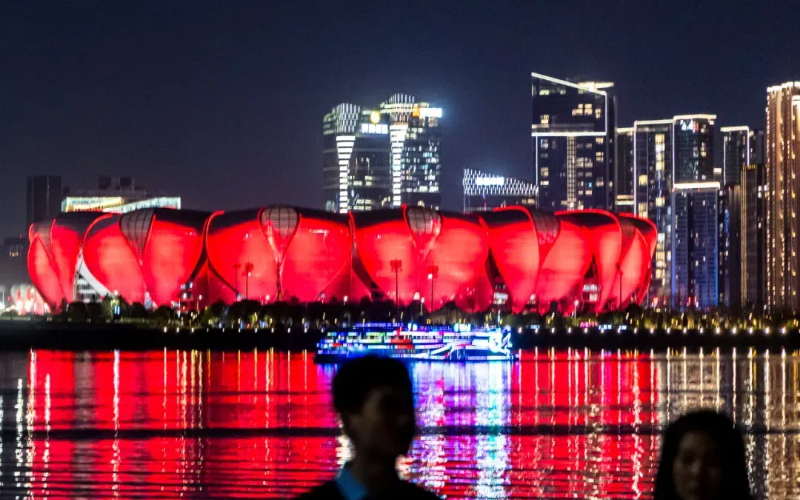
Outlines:
[{"label": "narrow dim high-rise immediately left of the golden-lit tower", "polygon": [[741,286],[742,304],[761,309],[766,289],[766,168],[748,165],[742,173]]}]

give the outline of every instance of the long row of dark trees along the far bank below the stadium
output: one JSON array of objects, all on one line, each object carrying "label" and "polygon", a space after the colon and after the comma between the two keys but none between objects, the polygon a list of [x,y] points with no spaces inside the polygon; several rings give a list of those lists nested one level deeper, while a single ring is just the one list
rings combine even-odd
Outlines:
[{"label": "long row of dark trees along the far bank below the stadium", "polygon": [[255,300],[243,300],[226,305],[217,302],[201,311],[177,311],[167,306],[148,309],[140,303],[128,304],[118,297],[105,297],[101,302],[63,302],[54,320],[73,323],[138,322],[148,326],[182,325],[185,327],[256,328],[283,327],[322,329],[335,328],[360,322],[415,322],[419,324],[503,324],[512,327],[539,326],[564,329],[582,327],[586,324],[626,325],[629,328],[797,328],[798,318],[786,312],[764,312],[756,310],[731,311],[715,309],[686,311],[643,309],[629,306],[624,311],[600,315],[573,314],[564,316],[557,307],[551,312],[539,314],[528,312],[512,314],[506,311],[487,310],[468,313],[454,303],[429,313],[419,302],[398,308],[388,300],[363,299],[359,302],[343,303],[312,302],[303,304],[292,299],[286,302],[261,304]]}]

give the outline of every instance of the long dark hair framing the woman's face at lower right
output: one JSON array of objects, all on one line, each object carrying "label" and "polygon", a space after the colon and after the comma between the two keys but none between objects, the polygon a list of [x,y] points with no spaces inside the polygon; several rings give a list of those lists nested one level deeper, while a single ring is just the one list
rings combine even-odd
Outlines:
[{"label": "long dark hair framing the woman's face at lower right", "polygon": [[683,437],[692,432],[705,434],[717,446],[723,478],[720,498],[751,500],[742,434],[730,418],[713,411],[687,413],[667,427],[653,500],[678,500],[672,467]]}]

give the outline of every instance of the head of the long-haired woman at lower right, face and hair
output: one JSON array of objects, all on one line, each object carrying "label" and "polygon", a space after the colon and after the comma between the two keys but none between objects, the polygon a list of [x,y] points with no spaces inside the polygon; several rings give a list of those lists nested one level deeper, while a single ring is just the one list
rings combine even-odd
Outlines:
[{"label": "head of the long-haired woman at lower right, face and hair", "polygon": [[654,500],[750,500],[744,442],[728,417],[698,411],[667,427]]}]

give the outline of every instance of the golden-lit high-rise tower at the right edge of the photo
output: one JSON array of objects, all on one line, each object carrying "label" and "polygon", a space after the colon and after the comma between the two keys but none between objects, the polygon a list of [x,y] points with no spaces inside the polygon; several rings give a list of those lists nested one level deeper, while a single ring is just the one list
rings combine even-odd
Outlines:
[{"label": "golden-lit high-rise tower at the right edge of the photo", "polygon": [[796,312],[800,289],[800,82],[767,89],[766,300]]}]

